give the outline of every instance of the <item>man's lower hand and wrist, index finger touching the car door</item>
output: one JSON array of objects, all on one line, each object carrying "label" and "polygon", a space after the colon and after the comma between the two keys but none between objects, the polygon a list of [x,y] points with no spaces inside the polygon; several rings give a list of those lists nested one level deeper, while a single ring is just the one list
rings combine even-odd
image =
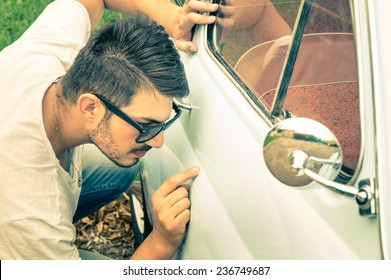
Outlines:
[{"label": "man's lower hand and wrist, index finger touching the car door", "polygon": [[132,259],[170,259],[182,244],[190,220],[190,186],[186,181],[195,178],[193,167],[168,178],[152,196],[154,227]]}]

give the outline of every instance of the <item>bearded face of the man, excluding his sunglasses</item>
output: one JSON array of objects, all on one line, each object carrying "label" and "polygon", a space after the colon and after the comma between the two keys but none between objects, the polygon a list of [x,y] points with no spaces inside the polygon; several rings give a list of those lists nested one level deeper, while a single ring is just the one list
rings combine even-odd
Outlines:
[{"label": "bearded face of the man, excluding his sunglasses", "polygon": [[[166,122],[172,113],[172,98],[156,93],[140,92],[133,101],[120,109],[134,121],[143,125]],[[139,131],[113,114],[108,123],[100,122],[89,133],[90,140],[115,164],[130,167],[146,152],[163,145],[163,131],[145,143],[136,143]]]}]

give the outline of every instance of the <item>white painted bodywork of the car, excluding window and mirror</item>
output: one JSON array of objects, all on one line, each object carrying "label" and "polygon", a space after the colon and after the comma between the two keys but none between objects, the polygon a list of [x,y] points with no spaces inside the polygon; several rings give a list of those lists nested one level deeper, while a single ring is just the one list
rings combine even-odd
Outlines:
[{"label": "white painted bodywork of the car, excluding window and mirror", "polygon": [[[355,9],[360,10],[357,16],[368,16],[365,2],[355,1]],[[375,13],[379,7],[372,8]],[[358,74],[365,141],[362,165],[353,186],[366,178],[382,178],[379,183],[386,184],[390,182],[385,172],[390,157],[376,155],[377,149],[385,149],[390,139],[385,123],[378,121],[379,117],[389,117],[389,113],[381,106],[381,112],[374,111],[374,96],[383,107],[384,99],[381,95],[368,94],[373,91],[373,69],[368,56],[371,48],[365,30],[368,26],[358,26],[361,28],[358,40],[367,44],[359,49],[363,57],[359,59]],[[383,217],[380,231],[379,215],[361,217],[352,198],[315,182],[305,188],[292,188],[278,181],[268,170],[262,152],[270,122],[254,110],[253,104],[238,90],[240,85],[207,51],[206,27],[197,27],[194,41],[200,46],[198,53],[182,54],[191,89],[185,101],[194,108],[184,111],[180,120],[165,132],[165,145],[150,151],[141,168],[148,198],[172,174],[193,165],[201,167],[199,176],[190,182],[191,220],[175,258],[382,259],[389,256],[389,188],[380,187],[381,205],[386,205],[380,210]],[[377,82],[379,87],[383,86],[383,80],[379,78]],[[382,138],[376,139],[376,133]],[[385,151],[389,155],[390,150]],[[377,160],[381,162],[382,174],[376,169]],[[149,199],[147,209],[153,219]],[[382,246],[386,246],[385,256]]]}]

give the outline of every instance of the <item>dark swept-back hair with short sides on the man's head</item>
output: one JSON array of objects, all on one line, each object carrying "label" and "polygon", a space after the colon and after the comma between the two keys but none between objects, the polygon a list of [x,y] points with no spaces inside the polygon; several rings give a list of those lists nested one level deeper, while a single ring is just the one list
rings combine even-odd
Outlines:
[{"label": "dark swept-back hair with short sides on the man's head", "polygon": [[162,26],[144,14],[115,19],[95,32],[65,74],[63,98],[75,103],[84,92],[117,106],[139,90],[181,98],[189,88],[178,51]]}]

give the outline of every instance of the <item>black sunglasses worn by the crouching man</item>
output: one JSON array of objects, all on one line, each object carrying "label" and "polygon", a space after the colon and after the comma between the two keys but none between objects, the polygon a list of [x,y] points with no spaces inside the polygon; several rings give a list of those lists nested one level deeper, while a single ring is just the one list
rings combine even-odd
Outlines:
[{"label": "black sunglasses worn by the crouching man", "polygon": [[165,123],[157,124],[157,125],[143,125],[139,124],[138,122],[134,121],[131,117],[129,117],[125,112],[120,110],[117,106],[115,106],[113,103],[108,101],[106,98],[100,96],[99,94],[94,94],[96,97],[98,97],[103,104],[107,107],[108,110],[110,110],[113,114],[117,115],[121,119],[123,119],[125,122],[133,126],[135,129],[138,130],[139,134],[136,137],[136,143],[145,143],[149,140],[151,140],[153,137],[158,135],[161,131],[166,130],[172,123],[179,118],[179,116],[182,113],[182,110],[178,107],[175,102],[172,103],[172,109],[175,111],[175,116],[168,120]]}]

